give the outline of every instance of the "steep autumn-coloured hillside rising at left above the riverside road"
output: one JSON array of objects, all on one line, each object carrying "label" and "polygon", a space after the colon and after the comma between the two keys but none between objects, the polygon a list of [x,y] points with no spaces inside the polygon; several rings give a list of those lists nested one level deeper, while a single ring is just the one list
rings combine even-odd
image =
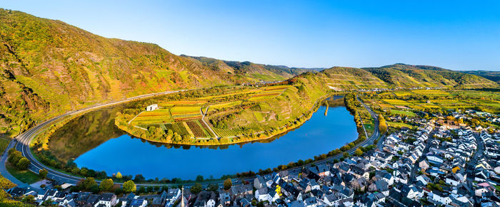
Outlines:
[{"label": "steep autumn-coloured hillside rising at left above the riverside road", "polygon": [[234,69],[225,63],[211,67],[152,43],[104,38],[62,21],[4,9],[0,41],[0,134],[17,134],[33,122],[98,102],[260,81],[254,74],[273,80],[295,75],[259,67],[228,73]]}]

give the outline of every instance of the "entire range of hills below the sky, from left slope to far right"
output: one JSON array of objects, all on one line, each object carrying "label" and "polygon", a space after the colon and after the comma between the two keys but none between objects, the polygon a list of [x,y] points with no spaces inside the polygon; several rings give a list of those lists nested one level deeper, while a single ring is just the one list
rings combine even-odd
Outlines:
[{"label": "entire range of hills below the sky, from left slope to far right", "polygon": [[37,121],[96,103],[166,90],[286,80],[304,72],[330,88],[497,86],[476,75],[430,66],[322,70],[174,55],[152,43],[104,38],[62,21],[5,9],[0,9],[0,41],[0,135],[19,134]]}]

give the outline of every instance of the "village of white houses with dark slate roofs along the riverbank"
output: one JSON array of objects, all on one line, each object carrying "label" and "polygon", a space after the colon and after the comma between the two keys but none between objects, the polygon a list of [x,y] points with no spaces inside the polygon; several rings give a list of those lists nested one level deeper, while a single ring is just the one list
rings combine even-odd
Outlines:
[{"label": "village of white houses with dark slate roofs along the riverbank", "polygon": [[[472,110],[459,118],[495,115]],[[439,116],[439,115],[434,115]],[[389,117],[398,119],[398,117]],[[399,117],[401,119],[401,117]],[[155,188],[152,193],[94,194],[71,186],[41,190],[15,187],[14,198],[53,206],[498,206],[500,134],[439,119],[406,118],[401,127],[363,154],[346,155],[300,169],[232,179],[191,192],[191,186]],[[138,186],[139,188],[139,186]],[[144,188],[142,186],[141,188]],[[152,187],[148,187],[150,190]],[[121,196],[123,195],[123,196]]]}]

